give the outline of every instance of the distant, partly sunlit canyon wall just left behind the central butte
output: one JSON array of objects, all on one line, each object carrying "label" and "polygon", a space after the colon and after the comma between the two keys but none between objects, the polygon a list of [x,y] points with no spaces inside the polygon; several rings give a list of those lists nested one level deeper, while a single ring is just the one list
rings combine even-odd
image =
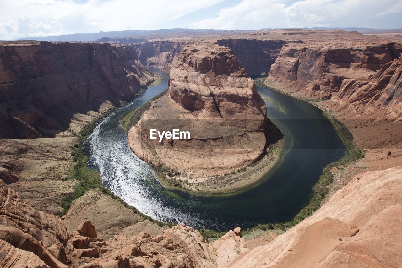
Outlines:
[{"label": "distant, partly sunlit canyon wall just left behind the central butte", "polygon": [[138,53],[138,59],[144,66],[169,72],[177,62],[177,57],[187,42],[149,41],[131,44]]}]

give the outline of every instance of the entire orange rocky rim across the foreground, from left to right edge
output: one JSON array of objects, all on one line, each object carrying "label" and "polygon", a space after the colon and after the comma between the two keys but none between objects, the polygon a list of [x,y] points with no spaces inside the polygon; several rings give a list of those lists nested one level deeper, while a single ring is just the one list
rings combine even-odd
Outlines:
[{"label": "entire orange rocky rim across the foreground, from left to right edge", "polygon": [[152,237],[125,232],[104,241],[90,221],[62,220],[0,188],[2,267],[399,267],[402,167],[356,176],[313,216],[249,249],[240,228],[213,243],[183,223]]}]

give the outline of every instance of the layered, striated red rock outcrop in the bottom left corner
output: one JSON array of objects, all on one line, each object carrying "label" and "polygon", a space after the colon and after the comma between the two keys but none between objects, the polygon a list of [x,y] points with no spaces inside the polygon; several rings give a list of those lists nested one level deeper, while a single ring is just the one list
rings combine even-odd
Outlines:
[{"label": "layered, striated red rock outcrop in the bottom left corner", "polygon": [[0,186],[2,267],[24,261],[29,267],[68,267],[69,236],[62,220],[32,208],[14,190]]}]

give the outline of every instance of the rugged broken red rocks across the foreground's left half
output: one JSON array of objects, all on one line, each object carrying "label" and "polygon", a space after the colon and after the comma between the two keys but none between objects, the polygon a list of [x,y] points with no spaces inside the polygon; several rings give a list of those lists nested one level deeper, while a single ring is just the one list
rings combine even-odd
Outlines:
[{"label": "rugged broken red rocks across the foreground's left half", "polygon": [[68,231],[62,220],[35,210],[14,190],[0,186],[1,267],[212,268],[213,264],[204,237],[183,223],[156,237],[120,234],[103,241],[90,221]]}]

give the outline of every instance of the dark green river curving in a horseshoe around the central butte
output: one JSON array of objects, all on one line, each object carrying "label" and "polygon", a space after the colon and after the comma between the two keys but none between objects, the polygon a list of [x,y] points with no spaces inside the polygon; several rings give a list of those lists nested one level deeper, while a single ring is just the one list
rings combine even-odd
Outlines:
[{"label": "dark green river curving in a horseshoe around the central butte", "polygon": [[132,153],[120,122],[167,89],[168,77],[162,74],[160,84],[111,113],[84,143],[89,162],[99,170],[104,185],[154,219],[218,231],[288,221],[308,204],[323,168],[346,154],[345,145],[320,109],[257,87],[261,97],[269,99],[265,101],[268,118],[285,134],[285,148],[275,167],[258,186],[238,194],[200,197],[166,190],[154,171]]}]

